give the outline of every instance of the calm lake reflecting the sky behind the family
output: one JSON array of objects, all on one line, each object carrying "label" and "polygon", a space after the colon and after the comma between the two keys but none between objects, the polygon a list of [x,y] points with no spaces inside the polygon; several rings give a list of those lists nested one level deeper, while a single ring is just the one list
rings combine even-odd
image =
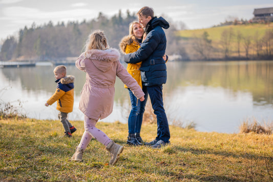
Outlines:
[{"label": "calm lake reflecting the sky behind the family", "polygon": [[[124,65],[126,66],[126,65]],[[83,120],[78,109],[84,72],[67,66],[75,76],[74,110],[70,120]],[[0,99],[19,107],[30,118],[57,119],[56,103],[45,103],[56,90],[54,66],[0,69]],[[103,122],[127,123],[130,98],[119,78],[114,111]],[[194,122],[196,130],[237,133],[245,119],[261,124],[273,119],[273,61],[168,62],[163,85],[164,108],[169,123]],[[1,101],[0,100],[0,101]],[[18,101],[19,100],[19,101]]]}]

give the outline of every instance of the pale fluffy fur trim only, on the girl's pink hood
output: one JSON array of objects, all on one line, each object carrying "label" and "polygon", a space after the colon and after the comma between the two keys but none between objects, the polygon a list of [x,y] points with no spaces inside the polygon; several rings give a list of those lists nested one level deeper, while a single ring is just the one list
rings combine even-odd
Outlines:
[{"label": "pale fluffy fur trim only, on the girl's pink hood", "polygon": [[85,56],[89,59],[95,59],[104,62],[116,62],[119,60],[120,53],[117,49],[114,48],[106,50],[91,49],[86,51]]}]

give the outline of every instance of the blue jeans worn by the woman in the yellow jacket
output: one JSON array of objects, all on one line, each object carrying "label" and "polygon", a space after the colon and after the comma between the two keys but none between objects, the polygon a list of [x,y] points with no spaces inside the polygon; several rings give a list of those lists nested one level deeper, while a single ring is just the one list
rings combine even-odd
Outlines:
[{"label": "blue jeans worn by the woman in the yellow jacket", "polygon": [[133,94],[133,92],[129,88],[128,90],[129,90],[131,106],[132,106],[132,109],[128,118],[129,133],[131,134],[140,133],[142,118],[143,118],[143,113],[145,111],[145,105],[147,102],[148,93],[144,92],[145,99],[142,102],[140,102],[140,100],[137,99],[137,97]]}]

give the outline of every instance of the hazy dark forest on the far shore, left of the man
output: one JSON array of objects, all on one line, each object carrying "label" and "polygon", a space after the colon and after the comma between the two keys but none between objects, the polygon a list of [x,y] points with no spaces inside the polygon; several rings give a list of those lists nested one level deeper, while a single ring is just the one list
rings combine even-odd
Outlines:
[{"label": "hazy dark forest on the far shore, left of the man", "polygon": [[[82,52],[87,36],[93,30],[103,30],[110,47],[119,49],[121,38],[129,34],[129,24],[137,21],[136,13],[127,10],[125,17],[121,11],[112,17],[99,13],[90,21],[60,22],[50,21],[43,26],[35,23],[30,28],[20,29],[18,38],[9,36],[4,40],[0,60],[57,60],[78,56]],[[171,26],[173,27],[173,26]],[[167,30],[170,41],[174,41],[174,28]],[[171,52],[170,52],[171,53]]]}]

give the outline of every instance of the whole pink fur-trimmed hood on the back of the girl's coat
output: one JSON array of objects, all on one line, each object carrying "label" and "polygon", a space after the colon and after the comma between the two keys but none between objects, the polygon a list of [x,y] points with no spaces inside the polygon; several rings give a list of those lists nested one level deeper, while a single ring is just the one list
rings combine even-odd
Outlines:
[{"label": "whole pink fur-trimmed hood on the back of the girl's coat", "polygon": [[108,71],[114,62],[119,61],[120,53],[117,49],[98,50],[91,49],[86,52],[86,58],[91,59],[97,69]]}]

